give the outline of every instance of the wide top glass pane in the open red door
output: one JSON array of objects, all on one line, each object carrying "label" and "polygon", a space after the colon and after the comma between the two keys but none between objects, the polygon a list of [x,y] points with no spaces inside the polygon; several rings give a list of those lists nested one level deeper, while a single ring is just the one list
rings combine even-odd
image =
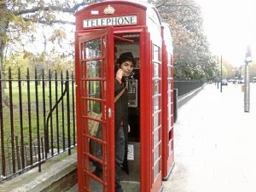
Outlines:
[{"label": "wide top glass pane in the open red door", "polygon": [[91,41],[86,42],[86,59],[96,58],[102,55],[101,51],[101,39],[94,39]]}]

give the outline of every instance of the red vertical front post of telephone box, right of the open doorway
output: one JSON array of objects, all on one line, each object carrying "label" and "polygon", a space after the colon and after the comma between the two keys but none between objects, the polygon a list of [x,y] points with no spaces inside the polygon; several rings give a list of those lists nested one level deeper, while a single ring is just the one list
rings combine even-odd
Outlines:
[{"label": "red vertical front post of telephone box, right of the open doorway", "polygon": [[[152,183],[152,61],[151,44],[148,32],[143,33],[141,44],[141,191],[151,191]],[[147,177],[145,177],[147,176]]]}]

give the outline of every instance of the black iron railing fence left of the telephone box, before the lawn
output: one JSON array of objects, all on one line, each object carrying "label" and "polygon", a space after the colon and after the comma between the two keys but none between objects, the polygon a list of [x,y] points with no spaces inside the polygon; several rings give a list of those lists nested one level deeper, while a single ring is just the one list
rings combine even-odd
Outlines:
[{"label": "black iron railing fence left of the telephone box, before the lawn", "polygon": [[44,160],[76,145],[73,73],[12,73],[0,74],[0,181],[40,172]]}]

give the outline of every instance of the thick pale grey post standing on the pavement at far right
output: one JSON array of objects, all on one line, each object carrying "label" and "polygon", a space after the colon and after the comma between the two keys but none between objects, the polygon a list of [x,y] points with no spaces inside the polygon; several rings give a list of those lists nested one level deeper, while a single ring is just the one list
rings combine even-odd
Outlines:
[{"label": "thick pale grey post standing on the pavement at far right", "polygon": [[244,112],[250,111],[250,79],[249,79],[249,62],[252,62],[251,49],[247,47],[247,53],[245,55],[245,90],[244,90]]}]

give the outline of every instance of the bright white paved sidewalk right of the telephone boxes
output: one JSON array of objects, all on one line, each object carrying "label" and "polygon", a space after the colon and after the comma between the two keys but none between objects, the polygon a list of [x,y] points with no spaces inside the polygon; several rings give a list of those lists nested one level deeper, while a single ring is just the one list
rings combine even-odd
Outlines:
[{"label": "bright white paved sidewalk right of the telephone boxes", "polygon": [[208,84],[178,109],[175,161],[164,192],[256,191],[256,84],[244,112],[241,84]]}]

